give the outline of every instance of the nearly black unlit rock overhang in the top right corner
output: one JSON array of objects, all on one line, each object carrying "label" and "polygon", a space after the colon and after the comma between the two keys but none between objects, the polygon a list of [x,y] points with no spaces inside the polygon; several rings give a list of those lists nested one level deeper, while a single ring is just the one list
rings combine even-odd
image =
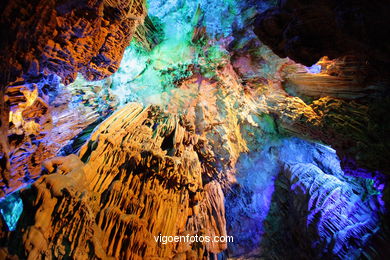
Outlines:
[{"label": "nearly black unlit rock overhang in the top right corner", "polygon": [[387,1],[278,1],[258,15],[254,32],[280,57],[306,66],[352,54],[389,64]]}]

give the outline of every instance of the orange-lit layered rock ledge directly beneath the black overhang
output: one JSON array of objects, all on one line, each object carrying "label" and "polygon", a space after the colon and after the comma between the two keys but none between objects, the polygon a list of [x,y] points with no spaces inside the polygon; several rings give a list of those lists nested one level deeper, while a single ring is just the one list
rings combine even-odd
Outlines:
[{"label": "orange-lit layered rock ledge directly beneath the black overhang", "polygon": [[285,69],[288,73],[284,88],[304,100],[321,97],[362,99],[386,93],[383,82],[368,81],[368,65],[352,56],[335,60],[323,57],[311,68],[292,64]]}]

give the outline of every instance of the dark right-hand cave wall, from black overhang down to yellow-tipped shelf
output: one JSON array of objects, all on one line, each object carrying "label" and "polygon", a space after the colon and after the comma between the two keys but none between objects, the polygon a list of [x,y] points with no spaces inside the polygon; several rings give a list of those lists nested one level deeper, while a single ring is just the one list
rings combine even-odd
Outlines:
[{"label": "dark right-hand cave wall, from black overhang down to yellow-tipped shelf", "polygon": [[[389,173],[389,8],[388,1],[278,1],[253,24],[279,57],[320,69],[285,70],[283,88],[292,98],[274,106],[302,100],[310,109],[283,127],[336,148],[352,170]],[[289,106],[278,116],[289,117]]]}]

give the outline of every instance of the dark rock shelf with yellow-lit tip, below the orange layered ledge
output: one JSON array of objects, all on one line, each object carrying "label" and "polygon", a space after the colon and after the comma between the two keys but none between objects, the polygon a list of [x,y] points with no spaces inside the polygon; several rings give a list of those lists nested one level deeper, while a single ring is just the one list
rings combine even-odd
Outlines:
[{"label": "dark rock shelf with yellow-lit tip, below the orange layered ledge", "polygon": [[323,97],[306,104],[297,97],[269,96],[269,111],[283,131],[310,140],[321,140],[337,150],[340,158],[352,159],[361,168],[389,174],[390,154],[385,117],[388,98],[365,104]]}]

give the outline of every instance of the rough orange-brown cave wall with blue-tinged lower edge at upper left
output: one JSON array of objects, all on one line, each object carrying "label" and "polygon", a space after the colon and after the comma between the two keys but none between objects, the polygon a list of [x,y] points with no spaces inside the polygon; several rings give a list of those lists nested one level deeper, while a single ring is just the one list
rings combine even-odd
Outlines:
[{"label": "rough orange-brown cave wall with blue-tinged lower edge at upper left", "polygon": [[[43,95],[47,95],[47,93],[42,94],[41,89],[47,84],[39,83],[42,81],[42,76],[47,77],[53,74],[58,76],[63,83],[69,84],[76,79],[77,73],[89,80],[103,79],[114,73],[119,68],[124,50],[129,45],[137,26],[142,24],[146,16],[146,6],[144,1],[21,0],[2,1],[0,13],[0,59],[2,60],[0,67],[0,168],[2,192],[6,192],[7,187],[11,186],[12,189],[16,189],[20,186],[9,183],[9,181],[15,182],[24,175],[36,175],[35,170],[31,169],[31,164],[34,165],[33,167],[37,166],[38,172],[40,171],[39,164],[42,160],[37,158],[36,163],[27,162],[30,164],[30,169],[22,169],[21,171],[27,171],[27,173],[21,175],[21,171],[17,168],[25,167],[26,161],[18,158],[16,165],[15,160],[10,162],[12,161],[10,157],[18,153],[18,149],[27,149],[26,156],[34,157],[32,154],[35,153],[38,157],[47,157],[46,155],[49,154],[54,155],[54,151],[58,152],[60,148],[58,145],[61,146],[60,139],[57,140],[57,147],[54,149],[49,148],[50,144],[47,148],[43,148],[43,144],[40,145],[41,148],[37,148],[39,144],[34,144],[30,140],[18,140],[19,143],[24,141],[26,145],[29,144],[28,147],[20,147],[20,145],[15,147],[15,145],[8,144],[9,141],[13,142],[13,140],[8,140],[8,136],[15,134],[13,133],[15,129],[8,129],[8,122],[11,128],[15,125],[12,117],[11,120],[8,119],[9,111],[11,110],[11,113],[15,115],[17,111],[12,110],[21,112],[20,110],[24,109],[25,112],[21,115],[23,118],[20,120],[14,118],[14,121],[21,121],[17,124],[27,125],[28,123],[28,128],[31,130],[34,128],[31,124],[34,124],[35,120],[35,124],[40,124],[42,128],[36,130],[42,134],[47,133],[56,122],[51,120],[52,105],[48,100],[42,99]],[[38,83],[35,90],[30,83]],[[9,85],[11,87],[7,87]],[[40,105],[36,102],[34,104],[27,102],[23,109],[15,109],[21,106],[19,103],[26,100],[26,95],[31,96],[28,92],[34,93],[34,91],[39,92],[36,102],[40,102]],[[55,92],[56,90],[47,91]],[[30,97],[29,101],[33,99]],[[33,113],[31,110],[36,110],[38,114],[31,115]],[[40,113],[45,115],[39,115]],[[85,123],[88,125],[88,120]],[[30,134],[40,135],[40,133],[34,131],[31,133],[28,130],[20,132],[19,129],[17,139],[24,137],[28,139]],[[74,132],[74,135],[76,134],[77,131]],[[72,137],[71,134],[66,138]],[[41,138],[42,136],[38,139]],[[39,150],[40,152],[37,152]],[[13,167],[11,163],[14,164]]]}]

